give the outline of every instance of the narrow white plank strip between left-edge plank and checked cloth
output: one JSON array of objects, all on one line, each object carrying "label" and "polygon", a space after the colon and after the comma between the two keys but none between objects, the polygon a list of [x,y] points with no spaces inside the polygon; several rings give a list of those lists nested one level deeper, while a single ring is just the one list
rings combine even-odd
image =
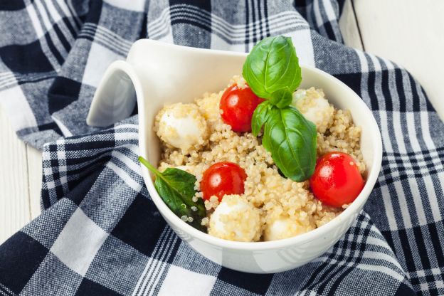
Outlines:
[{"label": "narrow white plank strip between left-edge plank and checked cloth", "polygon": [[28,157],[29,199],[31,204],[31,218],[41,213],[40,193],[42,184],[42,152],[26,145]]}]

